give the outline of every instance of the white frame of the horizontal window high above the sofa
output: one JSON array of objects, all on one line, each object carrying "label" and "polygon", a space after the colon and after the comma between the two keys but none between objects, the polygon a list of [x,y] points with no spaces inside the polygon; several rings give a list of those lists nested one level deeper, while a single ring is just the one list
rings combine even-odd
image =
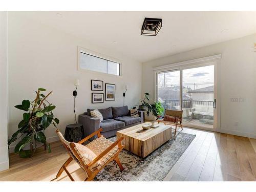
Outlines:
[{"label": "white frame of the horizontal window high above the sofa", "polygon": [[[80,53],[84,53],[84,54],[87,54],[87,55],[91,55],[93,57],[98,57],[100,59],[104,59],[104,60],[107,60],[107,61],[111,61],[111,62],[115,62],[115,63],[119,63],[119,75],[114,75],[114,74],[111,74],[111,73],[103,73],[103,72],[99,72],[99,71],[93,71],[93,70],[89,70],[89,69],[82,69],[80,67]],[[107,62],[108,63],[108,62]],[[107,64],[108,65],[108,64]],[[108,68],[108,66],[107,66]],[[116,59],[116,58],[113,58],[113,57],[110,57],[110,56],[106,56],[104,54],[101,54],[101,53],[98,53],[98,52],[95,52],[95,51],[92,51],[92,50],[88,50],[86,48],[83,48],[83,47],[80,47],[80,46],[77,46],[77,70],[78,71],[82,71],[82,72],[91,72],[91,73],[98,73],[98,74],[106,74],[106,75],[113,75],[115,77],[119,77],[119,76],[122,76],[122,62],[119,60],[119,59]]]}]

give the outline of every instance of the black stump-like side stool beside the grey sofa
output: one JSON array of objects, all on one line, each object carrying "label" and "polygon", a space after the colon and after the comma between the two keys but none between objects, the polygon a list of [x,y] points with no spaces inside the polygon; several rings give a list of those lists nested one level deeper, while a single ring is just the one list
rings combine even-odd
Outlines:
[{"label": "black stump-like side stool beside the grey sofa", "polygon": [[75,142],[83,139],[83,126],[81,123],[69,124],[66,126],[65,139],[69,142]]}]

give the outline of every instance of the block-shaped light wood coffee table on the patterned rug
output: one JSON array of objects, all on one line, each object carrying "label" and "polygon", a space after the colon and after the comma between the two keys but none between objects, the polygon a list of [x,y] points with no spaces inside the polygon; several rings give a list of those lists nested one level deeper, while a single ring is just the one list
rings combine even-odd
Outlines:
[{"label": "block-shaped light wood coffee table on the patterned rug", "polygon": [[143,158],[172,138],[172,127],[164,124],[137,133],[138,130],[142,130],[142,125],[147,123],[135,125],[116,133],[117,139],[124,138],[122,144],[125,145],[125,150]]}]

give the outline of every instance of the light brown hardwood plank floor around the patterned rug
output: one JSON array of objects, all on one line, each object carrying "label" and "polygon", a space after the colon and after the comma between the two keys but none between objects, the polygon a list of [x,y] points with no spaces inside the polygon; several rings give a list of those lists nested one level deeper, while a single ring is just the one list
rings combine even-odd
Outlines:
[{"label": "light brown hardwood plank floor around the patterned rug", "polygon": [[[196,138],[164,178],[164,181],[256,181],[256,139],[183,129]],[[38,148],[33,158],[10,154],[10,168],[0,181],[50,181],[68,154],[60,142],[51,143],[52,153]],[[68,169],[76,181],[85,173],[75,162]],[[65,172],[57,181],[70,181]]]}]

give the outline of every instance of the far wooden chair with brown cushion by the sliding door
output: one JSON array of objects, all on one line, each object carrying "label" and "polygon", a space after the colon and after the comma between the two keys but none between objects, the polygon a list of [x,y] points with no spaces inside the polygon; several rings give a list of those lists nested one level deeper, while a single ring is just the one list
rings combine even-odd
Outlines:
[{"label": "far wooden chair with brown cushion by the sliding door", "polygon": [[[163,122],[166,125],[174,125],[175,126],[175,132],[174,136],[176,136],[177,132],[177,127],[181,127],[181,131],[183,130],[182,127],[182,110],[181,111],[176,111],[176,110],[165,110],[164,117],[163,116],[158,116],[157,117],[157,122]],[[163,118],[162,120],[159,118]]]}]

